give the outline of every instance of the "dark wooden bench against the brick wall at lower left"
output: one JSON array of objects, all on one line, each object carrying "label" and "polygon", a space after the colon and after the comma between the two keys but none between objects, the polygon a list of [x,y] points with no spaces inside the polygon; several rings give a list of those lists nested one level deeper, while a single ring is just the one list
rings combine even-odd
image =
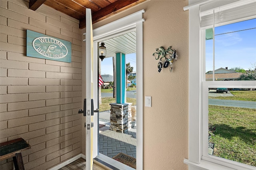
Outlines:
[{"label": "dark wooden bench against the brick wall at lower left", "polygon": [[31,146],[23,138],[0,143],[0,160],[12,157],[15,170],[25,170],[21,151],[29,148]]}]

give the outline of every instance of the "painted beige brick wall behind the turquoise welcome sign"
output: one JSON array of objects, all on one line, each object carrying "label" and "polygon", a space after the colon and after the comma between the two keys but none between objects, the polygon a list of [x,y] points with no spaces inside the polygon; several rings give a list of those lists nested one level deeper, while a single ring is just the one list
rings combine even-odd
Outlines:
[{"label": "painted beige brick wall behind the turquoise welcome sign", "polygon": [[[0,17],[0,142],[24,138],[25,169],[48,169],[81,153],[79,21],[28,0],[0,0]],[[72,42],[72,63],[26,57],[27,29]]]}]

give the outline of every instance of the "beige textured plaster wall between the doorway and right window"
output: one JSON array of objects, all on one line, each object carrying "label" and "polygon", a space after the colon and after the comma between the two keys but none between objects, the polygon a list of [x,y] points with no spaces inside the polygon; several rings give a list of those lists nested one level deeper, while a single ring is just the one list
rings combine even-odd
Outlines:
[{"label": "beige textured plaster wall between the doorway and right window", "polygon": [[[188,11],[187,0],[150,0],[98,22],[93,28],[144,9],[144,96],[152,96],[152,107],[144,107],[144,169],[186,170],[188,158]],[[169,68],[158,73],[155,49],[172,46],[178,52]],[[139,114],[139,113],[137,113]]]}]

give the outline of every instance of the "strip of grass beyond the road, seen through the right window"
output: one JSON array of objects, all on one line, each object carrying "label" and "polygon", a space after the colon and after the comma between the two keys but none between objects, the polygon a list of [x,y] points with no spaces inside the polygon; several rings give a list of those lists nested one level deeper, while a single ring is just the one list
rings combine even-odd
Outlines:
[{"label": "strip of grass beyond the road, seen through the right window", "polygon": [[209,97],[209,99],[256,101],[256,91],[230,91],[234,96]]}]

